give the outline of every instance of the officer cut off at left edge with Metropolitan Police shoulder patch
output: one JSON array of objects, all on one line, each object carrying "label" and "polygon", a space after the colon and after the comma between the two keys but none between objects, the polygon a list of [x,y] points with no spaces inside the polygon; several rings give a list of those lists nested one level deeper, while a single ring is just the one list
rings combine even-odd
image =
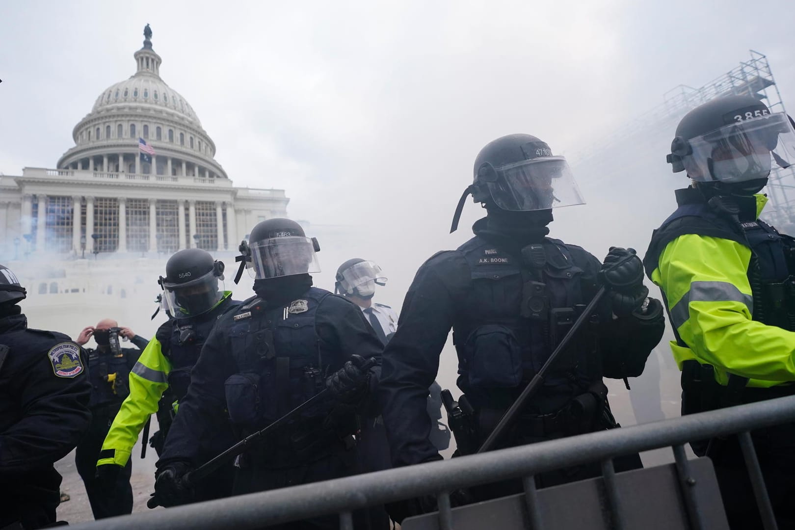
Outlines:
[{"label": "officer cut off at left edge with Metropolitan Police shoulder patch", "polygon": [[0,528],[56,523],[53,464],[91,421],[84,352],[68,336],[28,327],[25,288],[0,265]]}]

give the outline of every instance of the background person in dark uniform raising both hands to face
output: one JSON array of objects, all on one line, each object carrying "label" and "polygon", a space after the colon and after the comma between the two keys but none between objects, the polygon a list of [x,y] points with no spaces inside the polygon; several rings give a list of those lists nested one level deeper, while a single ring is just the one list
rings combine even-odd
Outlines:
[{"label": "background person in dark uniform raising both hands to face", "polygon": [[[91,380],[91,426],[75,451],[75,465],[86,486],[95,519],[125,515],[133,511],[130,487],[132,464],[127,462],[113,476],[98,478],[96,462],[103,440],[111,428],[122,401],[130,394],[129,375],[147,341],[128,327],[118,327],[113,319],[103,319],[95,327],[84,328],[76,342],[81,346],[93,336],[95,349],[88,348],[88,377]],[[137,347],[122,348],[119,337]]]}]

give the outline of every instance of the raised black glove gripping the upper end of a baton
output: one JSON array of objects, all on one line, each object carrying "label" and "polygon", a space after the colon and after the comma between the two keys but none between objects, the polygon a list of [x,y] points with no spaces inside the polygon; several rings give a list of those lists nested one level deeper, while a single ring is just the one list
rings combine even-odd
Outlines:
[{"label": "raised black glove gripping the upper end of a baton", "polygon": [[649,296],[649,289],[643,285],[643,262],[634,249],[611,246],[599,269],[599,280],[610,289],[616,316],[630,315]]}]

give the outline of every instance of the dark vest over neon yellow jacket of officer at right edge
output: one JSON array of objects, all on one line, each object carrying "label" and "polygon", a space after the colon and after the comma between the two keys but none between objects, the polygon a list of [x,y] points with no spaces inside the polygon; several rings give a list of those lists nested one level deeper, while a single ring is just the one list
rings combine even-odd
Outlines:
[{"label": "dark vest over neon yellow jacket of officer at right edge", "polygon": [[[697,234],[738,242],[751,251],[747,275],[754,300],[750,308],[752,318],[795,331],[795,278],[790,273],[795,255],[793,238],[756,219],[755,199],[753,203],[750,198],[745,199],[749,200],[742,205],[740,215],[733,217],[715,211],[695,189],[677,190],[677,211],[652,234],[643,259],[646,274],[651,277],[665,246],[681,235]],[[681,342],[678,337],[677,340]]]}]

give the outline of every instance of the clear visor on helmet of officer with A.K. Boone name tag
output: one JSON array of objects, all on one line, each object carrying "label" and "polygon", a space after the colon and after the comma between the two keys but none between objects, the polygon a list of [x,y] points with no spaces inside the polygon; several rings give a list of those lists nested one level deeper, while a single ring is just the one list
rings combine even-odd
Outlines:
[{"label": "clear visor on helmet of officer with A.K. Boone name tag", "polygon": [[541,157],[497,169],[488,182],[491,198],[503,210],[549,210],[584,204],[564,157]]}]

